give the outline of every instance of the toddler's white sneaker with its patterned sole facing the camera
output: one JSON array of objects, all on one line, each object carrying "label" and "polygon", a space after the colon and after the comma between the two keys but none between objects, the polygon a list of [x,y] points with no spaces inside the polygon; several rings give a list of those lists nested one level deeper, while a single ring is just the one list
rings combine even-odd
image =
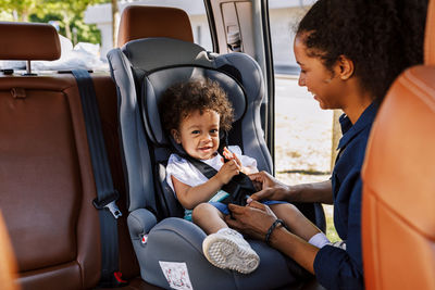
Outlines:
[{"label": "toddler's white sneaker with its patterned sole facing the camera", "polygon": [[243,274],[253,272],[260,264],[259,255],[239,232],[231,228],[208,236],[202,242],[202,251],[214,266]]}]

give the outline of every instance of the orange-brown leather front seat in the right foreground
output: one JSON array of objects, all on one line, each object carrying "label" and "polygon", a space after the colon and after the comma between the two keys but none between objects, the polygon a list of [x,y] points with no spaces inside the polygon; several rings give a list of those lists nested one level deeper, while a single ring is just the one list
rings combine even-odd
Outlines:
[{"label": "orange-brown leather front seat in the right foreground", "polygon": [[366,289],[435,289],[435,1],[425,63],[396,79],[362,171]]}]

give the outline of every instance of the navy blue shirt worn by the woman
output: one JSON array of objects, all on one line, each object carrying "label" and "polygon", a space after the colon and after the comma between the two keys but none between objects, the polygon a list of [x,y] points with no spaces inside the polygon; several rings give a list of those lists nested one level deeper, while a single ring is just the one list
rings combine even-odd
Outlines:
[{"label": "navy blue shirt worn by the woman", "polygon": [[364,278],[361,254],[361,166],[377,102],[368,106],[352,125],[340,116],[343,137],[338,143],[338,157],[333,171],[334,225],[346,241],[346,250],[325,245],[314,259],[318,281],[327,289],[363,289]]}]

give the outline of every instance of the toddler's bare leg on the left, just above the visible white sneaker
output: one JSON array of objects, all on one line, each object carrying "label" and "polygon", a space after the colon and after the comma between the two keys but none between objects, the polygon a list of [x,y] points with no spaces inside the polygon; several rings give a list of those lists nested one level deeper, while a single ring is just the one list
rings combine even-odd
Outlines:
[{"label": "toddler's bare leg on the left, just above the visible white sneaker", "polygon": [[191,220],[202,228],[207,235],[228,227],[224,222],[224,215],[210,203],[198,204],[191,213]]}]

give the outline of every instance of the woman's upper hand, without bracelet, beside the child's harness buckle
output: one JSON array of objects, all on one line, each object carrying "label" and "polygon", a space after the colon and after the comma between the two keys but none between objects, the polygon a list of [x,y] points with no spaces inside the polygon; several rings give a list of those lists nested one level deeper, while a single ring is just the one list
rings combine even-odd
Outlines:
[{"label": "woman's upper hand, without bracelet, beside the child's harness buckle", "polygon": [[[250,197],[251,200],[289,200],[290,187],[279,182],[269,173],[260,172],[251,174],[249,178],[252,180],[256,188],[260,190]],[[250,202],[249,199],[248,202]]]}]

